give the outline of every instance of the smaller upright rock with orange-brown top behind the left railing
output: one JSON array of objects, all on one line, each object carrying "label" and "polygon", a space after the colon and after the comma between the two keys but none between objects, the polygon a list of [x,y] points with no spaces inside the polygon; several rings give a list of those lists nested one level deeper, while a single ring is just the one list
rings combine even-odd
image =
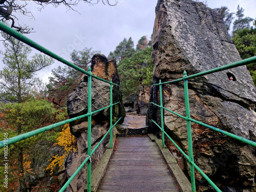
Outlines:
[{"label": "smaller upright rock with orange-brown top behind the left railing", "polygon": [[[96,54],[92,58],[92,73],[100,78],[113,83],[120,84],[117,74],[116,61],[108,60],[104,55]],[[68,98],[68,114],[70,118],[87,113],[88,77],[84,75],[78,84],[75,92]],[[121,101],[120,86],[113,86],[113,103]],[[110,84],[92,78],[92,111],[96,111],[110,105]],[[122,102],[113,106],[113,123],[120,117],[125,117]],[[87,157],[87,118],[79,119],[70,123],[71,133],[77,137],[78,150],[69,155],[66,160],[66,176],[71,177],[75,170]],[[94,148],[104,134],[110,128],[110,108],[98,112],[92,116],[92,148]],[[100,144],[92,156],[92,170],[96,167],[103,153],[109,136]],[[87,166],[85,165],[75,179],[68,186],[66,191],[83,191],[87,183]]]}]

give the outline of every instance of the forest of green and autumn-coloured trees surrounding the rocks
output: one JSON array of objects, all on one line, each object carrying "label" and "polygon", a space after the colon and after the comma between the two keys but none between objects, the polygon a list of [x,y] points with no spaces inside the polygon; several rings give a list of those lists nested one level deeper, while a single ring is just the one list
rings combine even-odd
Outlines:
[{"label": "forest of green and autumn-coloured trees surrounding the rocks", "polygon": [[[109,4],[108,1],[104,3]],[[231,39],[241,58],[255,56],[256,20],[245,16],[244,9],[239,5],[236,13],[231,13],[228,7],[216,8],[215,11],[223,18],[227,30],[231,31]],[[5,18],[9,17],[7,23],[19,32],[30,32],[28,26],[16,25],[11,13],[8,15],[0,10],[0,14],[6,14]],[[52,70],[49,82],[43,86],[36,72],[51,66],[54,60],[42,54],[31,56],[31,48],[23,42],[3,32],[2,37],[5,39],[5,50],[1,51],[4,68],[0,71],[1,140],[4,133],[8,133],[11,138],[68,119],[67,99],[76,89],[81,73],[58,67]],[[96,53],[101,52],[87,47],[74,50],[70,54],[70,61],[87,70]],[[136,45],[132,37],[124,37],[116,49],[110,51],[108,58],[116,59],[123,97],[137,93],[140,84],[151,86],[154,68],[151,54],[151,38],[146,35]],[[256,63],[247,65],[247,69],[256,86]],[[50,149],[55,155],[49,153]],[[8,191],[32,191],[39,183],[44,188],[49,182],[45,178],[53,178],[51,185],[45,187],[48,191],[58,189],[62,182],[59,176],[62,176],[65,169],[65,159],[76,150],[76,138],[70,133],[68,124],[9,145],[8,170],[12,177],[9,177]],[[1,148],[0,156],[4,157],[4,153]],[[1,181],[4,175],[4,169],[0,169]],[[0,190],[5,190],[3,182],[0,183]]]}]

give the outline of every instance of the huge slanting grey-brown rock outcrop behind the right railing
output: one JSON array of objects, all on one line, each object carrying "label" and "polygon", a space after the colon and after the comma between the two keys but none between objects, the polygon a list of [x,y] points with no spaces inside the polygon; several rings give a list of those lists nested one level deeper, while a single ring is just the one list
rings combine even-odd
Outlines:
[{"label": "huge slanting grey-brown rock outcrop behind the right railing", "polygon": [[[191,0],[159,0],[153,31],[153,83],[170,81],[241,60],[219,15]],[[233,80],[229,80],[229,76]],[[188,80],[191,118],[256,141],[256,89],[245,66]],[[183,82],[163,86],[165,108],[185,115]],[[160,103],[159,87],[151,89],[151,101]],[[150,131],[159,129],[160,110],[148,110]],[[188,154],[186,121],[165,111],[168,134]],[[255,148],[192,123],[195,163],[211,179],[224,186],[255,185]],[[185,172],[188,172],[185,164]],[[198,187],[207,185],[197,173]],[[223,186],[222,185],[222,186]],[[200,187],[202,189],[202,187]]]}]

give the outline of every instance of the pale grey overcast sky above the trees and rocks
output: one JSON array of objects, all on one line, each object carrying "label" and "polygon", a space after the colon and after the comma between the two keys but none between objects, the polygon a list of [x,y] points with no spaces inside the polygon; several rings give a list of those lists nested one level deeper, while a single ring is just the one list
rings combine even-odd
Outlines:
[{"label": "pale grey overcast sky above the trees and rocks", "polygon": [[[74,7],[77,12],[68,10],[65,6],[55,8],[52,5],[38,11],[38,5],[31,1],[28,3],[27,9],[34,18],[18,15],[19,23],[34,28],[35,33],[27,36],[70,60],[70,53],[74,49],[92,48],[108,56],[124,37],[132,37],[135,46],[141,36],[151,37],[157,0],[119,0],[115,7],[101,2],[89,6],[81,1]],[[227,6],[230,12],[236,12],[240,5],[245,9],[245,16],[256,17],[256,0],[208,0],[207,5],[210,8]],[[3,67],[2,61],[0,65]],[[56,61],[51,68],[59,65]],[[40,72],[43,82],[48,80],[51,68]]]}]

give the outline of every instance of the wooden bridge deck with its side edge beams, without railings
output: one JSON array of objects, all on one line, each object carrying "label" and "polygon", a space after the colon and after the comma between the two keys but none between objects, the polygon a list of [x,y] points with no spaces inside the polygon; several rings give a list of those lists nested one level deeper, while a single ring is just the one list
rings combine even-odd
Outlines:
[{"label": "wooden bridge deck with its side edge beams, without railings", "polygon": [[176,160],[161,144],[154,135],[116,138],[113,155],[108,149],[92,175],[91,191],[191,191]]}]

